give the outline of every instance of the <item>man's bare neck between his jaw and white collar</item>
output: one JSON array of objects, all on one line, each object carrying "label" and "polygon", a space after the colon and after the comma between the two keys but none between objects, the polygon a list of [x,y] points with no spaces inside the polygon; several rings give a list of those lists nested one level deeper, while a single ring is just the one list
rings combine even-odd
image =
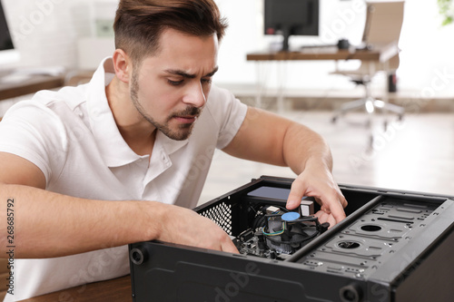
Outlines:
[{"label": "man's bare neck between his jaw and white collar", "polygon": [[156,129],[133,106],[128,86],[115,76],[105,87],[105,95],[123,140],[138,155],[151,155]]}]

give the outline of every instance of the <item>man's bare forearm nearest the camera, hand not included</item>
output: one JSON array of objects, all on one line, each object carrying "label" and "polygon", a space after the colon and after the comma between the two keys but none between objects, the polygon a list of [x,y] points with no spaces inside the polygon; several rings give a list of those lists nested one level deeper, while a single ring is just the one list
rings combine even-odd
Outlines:
[{"label": "man's bare forearm nearest the camera, hand not included", "polygon": [[[84,200],[21,185],[0,185],[0,199],[2,226],[8,200],[14,201],[17,258],[61,257],[155,239],[163,214],[158,202]],[[2,233],[6,248],[7,229]]]}]

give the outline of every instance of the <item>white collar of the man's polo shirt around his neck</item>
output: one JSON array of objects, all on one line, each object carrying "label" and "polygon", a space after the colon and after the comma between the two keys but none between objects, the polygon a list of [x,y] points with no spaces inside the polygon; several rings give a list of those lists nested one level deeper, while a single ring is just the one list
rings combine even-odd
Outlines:
[{"label": "white collar of the man's polo shirt around his neck", "polygon": [[[133,161],[148,158],[148,155],[137,155],[123,140],[122,134],[114,120],[114,115],[105,95],[105,86],[114,78],[114,63],[112,58],[105,58],[99,65],[90,81],[87,91],[87,109],[90,126],[94,133],[99,151],[108,167],[120,167]],[[154,141],[153,151],[163,149],[169,155],[178,151],[188,143],[174,141],[162,132],[158,132]],[[161,148],[162,146],[162,148]]]}]

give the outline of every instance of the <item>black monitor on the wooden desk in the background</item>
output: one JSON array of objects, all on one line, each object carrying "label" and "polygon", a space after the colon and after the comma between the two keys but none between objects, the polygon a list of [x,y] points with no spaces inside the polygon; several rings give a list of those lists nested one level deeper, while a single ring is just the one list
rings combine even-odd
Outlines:
[{"label": "black monitor on the wooden desk in the background", "polygon": [[319,35],[319,0],[265,0],[265,34],[282,34],[282,50],[291,35]]}]

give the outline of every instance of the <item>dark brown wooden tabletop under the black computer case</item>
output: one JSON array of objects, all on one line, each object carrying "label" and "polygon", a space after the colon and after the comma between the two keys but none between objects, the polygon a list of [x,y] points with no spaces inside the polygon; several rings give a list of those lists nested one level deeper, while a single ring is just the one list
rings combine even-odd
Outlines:
[{"label": "dark brown wooden tabletop under the black computer case", "polygon": [[131,277],[124,276],[112,280],[94,282],[86,286],[73,287],[39,297],[31,297],[23,302],[127,302],[133,301]]}]

